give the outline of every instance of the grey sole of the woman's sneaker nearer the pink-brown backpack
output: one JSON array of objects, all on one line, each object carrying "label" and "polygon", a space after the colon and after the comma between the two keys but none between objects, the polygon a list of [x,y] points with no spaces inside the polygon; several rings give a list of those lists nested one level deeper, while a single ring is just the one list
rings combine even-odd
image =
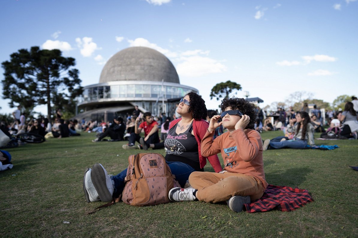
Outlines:
[{"label": "grey sole of the woman's sneaker nearer the pink-brown backpack", "polygon": [[103,171],[101,164],[96,163],[92,167],[91,179],[93,186],[95,186],[98,196],[102,202],[112,201],[112,194],[108,191],[106,183],[106,174]]}]

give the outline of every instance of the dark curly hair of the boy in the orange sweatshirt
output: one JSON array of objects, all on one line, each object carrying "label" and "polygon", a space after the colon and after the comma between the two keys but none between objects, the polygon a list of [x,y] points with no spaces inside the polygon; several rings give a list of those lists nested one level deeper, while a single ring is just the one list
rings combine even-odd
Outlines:
[{"label": "dark curly hair of the boy in the orange sweatshirt", "polygon": [[252,103],[246,101],[244,98],[232,97],[221,100],[221,111],[231,107],[232,110],[240,110],[243,115],[250,117],[250,122],[245,129],[254,129],[256,121],[256,107]]}]

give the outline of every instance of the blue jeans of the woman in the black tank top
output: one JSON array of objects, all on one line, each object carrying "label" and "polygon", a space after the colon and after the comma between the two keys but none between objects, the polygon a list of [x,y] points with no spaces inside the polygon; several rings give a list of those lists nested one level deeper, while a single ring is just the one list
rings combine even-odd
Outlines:
[{"label": "blue jeans of the woman in the black tank top", "polygon": [[[190,165],[182,162],[170,162],[166,161],[169,165],[171,173],[175,175],[175,180],[179,182],[180,186],[183,188],[187,180],[189,179],[189,175],[195,171]],[[113,196],[115,198],[119,197],[124,189],[125,182],[124,178],[127,176],[127,169],[118,173],[115,176],[112,176],[111,179],[114,181],[114,193]]]}]

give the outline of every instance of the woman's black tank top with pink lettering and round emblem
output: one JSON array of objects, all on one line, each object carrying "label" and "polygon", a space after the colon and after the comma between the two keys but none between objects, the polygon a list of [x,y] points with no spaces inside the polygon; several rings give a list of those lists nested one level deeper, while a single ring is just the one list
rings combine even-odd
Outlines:
[{"label": "woman's black tank top with pink lettering and round emblem", "polygon": [[196,171],[204,171],[200,168],[198,142],[195,140],[193,131],[193,122],[189,128],[179,135],[175,130],[178,124],[174,125],[169,131],[164,141],[166,151],[165,159],[167,161],[178,161],[189,164]]}]

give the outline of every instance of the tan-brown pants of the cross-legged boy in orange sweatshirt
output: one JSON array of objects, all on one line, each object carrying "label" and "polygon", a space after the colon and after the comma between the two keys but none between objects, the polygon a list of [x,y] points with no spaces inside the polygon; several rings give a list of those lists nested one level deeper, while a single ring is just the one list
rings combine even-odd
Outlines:
[{"label": "tan-brown pants of the cross-legged boy in orange sweatshirt", "polygon": [[190,185],[198,189],[199,201],[221,202],[232,196],[250,196],[251,201],[262,197],[261,181],[241,173],[193,172],[189,176]]}]

